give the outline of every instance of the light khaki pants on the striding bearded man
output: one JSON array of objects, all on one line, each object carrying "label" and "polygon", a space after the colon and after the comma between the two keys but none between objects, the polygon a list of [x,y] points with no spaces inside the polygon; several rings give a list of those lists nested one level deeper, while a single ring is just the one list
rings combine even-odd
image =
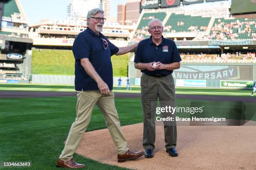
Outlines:
[{"label": "light khaki pants on the striding bearded man", "polygon": [[127,141],[120,129],[113,91],[111,90],[110,96],[106,97],[100,94],[99,91],[77,91],[77,117],[70,128],[64,150],[59,156],[61,160],[73,158],[74,152],[89,125],[95,104],[100,108],[105,118],[118,154],[122,155],[128,150]]}]

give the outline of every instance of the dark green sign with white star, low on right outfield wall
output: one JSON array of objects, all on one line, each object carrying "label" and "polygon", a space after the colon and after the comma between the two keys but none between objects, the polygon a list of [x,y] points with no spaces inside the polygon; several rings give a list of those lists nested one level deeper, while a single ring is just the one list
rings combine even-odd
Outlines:
[{"label": "dark green sign with white star, low on right outfield wall", "polygon": [[253,88],[253,81],[220,80],[220,87],[225,87],[225,88]]}]

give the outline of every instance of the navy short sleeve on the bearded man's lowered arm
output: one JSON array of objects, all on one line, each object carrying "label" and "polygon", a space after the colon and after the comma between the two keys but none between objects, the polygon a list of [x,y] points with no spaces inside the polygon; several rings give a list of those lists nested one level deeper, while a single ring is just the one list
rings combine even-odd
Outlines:
[{"label": "navy short sleeve on the bearded man's lowered arm", "polygon": [[72,51],[74,54],[75,60],[82,58],[89,58],[91,50],[91,43],[87,37],[82,34],[77,35],[72,46]]}]

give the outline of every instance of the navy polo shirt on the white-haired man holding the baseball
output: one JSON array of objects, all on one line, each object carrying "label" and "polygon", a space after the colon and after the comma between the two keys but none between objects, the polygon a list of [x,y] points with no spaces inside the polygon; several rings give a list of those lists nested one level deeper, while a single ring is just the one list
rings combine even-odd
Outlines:
[{"label": "navy polo shirt on the white-haired man holding the baseball", "polygon": [[[172,62],[181,61],[179,51],[173,40],[164,38],[162,36],[162,42],[158,46],[152,41],[152,36],[142,40],[137,47],[134,62],[138,63],[148,63],[148,62],[161,62],[163,64],[170,64]],[[141,70],[146,74],[162,74],[169,75],[172,74],[172,70]]]}]

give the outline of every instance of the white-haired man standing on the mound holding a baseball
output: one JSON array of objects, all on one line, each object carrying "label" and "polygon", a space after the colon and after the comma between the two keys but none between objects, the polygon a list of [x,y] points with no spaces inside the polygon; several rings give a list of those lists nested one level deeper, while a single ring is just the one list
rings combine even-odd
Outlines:
[{"label": "white-haired man standing on the mound holding a baseball", "polygon": [[[174,41],[163,37],[163,25],[159,19],[153,19],[148,23],[148,32],[151,36],[139,43],[134,66],[143,73],[141,76],[143,148],[145,149],[145,157],[152,158],[156,138],[154,120],[156,103],[159,99],[161,107],[165,107],[167,104],[175,107],[172,71],[179,69],[181,57]],[[177,156],[175,120],[171,123],[164,122],[164,137],[166,152],[170,156]]]}]

